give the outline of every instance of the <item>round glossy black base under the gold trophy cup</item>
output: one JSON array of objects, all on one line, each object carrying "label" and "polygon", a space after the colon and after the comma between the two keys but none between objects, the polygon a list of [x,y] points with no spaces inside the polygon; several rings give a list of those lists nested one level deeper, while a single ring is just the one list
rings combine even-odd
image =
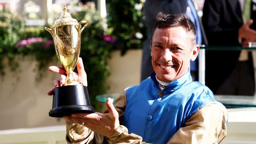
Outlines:
[{"label": "round glossy black base under the gold trophy cup", "polygon": [[94,113],[86,86],[67,85],[54,89],[51,117],[69,116],[73,113]]}]

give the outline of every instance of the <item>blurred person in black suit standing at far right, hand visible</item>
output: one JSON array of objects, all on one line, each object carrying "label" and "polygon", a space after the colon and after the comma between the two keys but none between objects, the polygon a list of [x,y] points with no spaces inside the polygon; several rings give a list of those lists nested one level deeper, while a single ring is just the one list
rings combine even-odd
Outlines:
[{"label": "blurred person in black suit standing at far right, hand visible", "polygon": [[[245,1],[205,0],[202,22],[209,46],[241,46],[242,41],[255,41],[256,5],[250,1],[248,8]],[[252,20],[249,17],[247,21],[244,12],[248,10]],[[214,94],[254,94],[252,55],[242,53],[239,50],[206,51],[205,85]]]}]

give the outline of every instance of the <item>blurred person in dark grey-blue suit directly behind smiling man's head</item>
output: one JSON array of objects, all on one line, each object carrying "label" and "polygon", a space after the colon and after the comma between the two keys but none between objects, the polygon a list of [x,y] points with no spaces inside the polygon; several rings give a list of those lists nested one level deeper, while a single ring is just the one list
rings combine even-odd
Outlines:
[{"label": "blurred person in dark grey-blue suit directly behind smiling man's head", "polygon": [[[152,38],[152,29],[156,21],[155,17],[158,12],[168,14],[186,13],[196,25],[196,43],[199,45],[207,44],[201,21],[199,21],[192,0],[146,0],[144,4],[144,14],[146,16],[148,38],[143,44],[141,81],[148,78],[153,72],[150,56],[150,40]],[[192,77],[198,79],[198,59],[191,62],[190,68]]]}]

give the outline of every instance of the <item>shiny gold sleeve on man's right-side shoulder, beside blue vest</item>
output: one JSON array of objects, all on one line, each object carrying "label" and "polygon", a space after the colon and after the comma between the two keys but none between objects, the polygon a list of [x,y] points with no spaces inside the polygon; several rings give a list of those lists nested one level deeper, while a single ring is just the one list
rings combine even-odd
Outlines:
[{"label": "shiny gold sleeve on man's right-side shoulder, beside blue vest", "polygon": [[211,102],[198,109],[168,144],[219,144],[227,135],[227,109]]}]

